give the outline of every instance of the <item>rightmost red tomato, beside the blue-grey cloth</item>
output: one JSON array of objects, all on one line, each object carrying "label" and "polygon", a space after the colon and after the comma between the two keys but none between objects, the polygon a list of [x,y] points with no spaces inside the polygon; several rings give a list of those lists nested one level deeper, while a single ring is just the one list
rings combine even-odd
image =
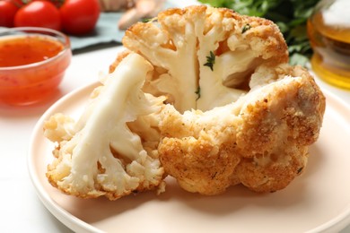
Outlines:
[{"label": "rightmost red tomato, beside the blue-grey cloth", "polygon": [[59,9],[63,30],[68,34],[91,32],[100,16],[98,0],[66,0]]}]

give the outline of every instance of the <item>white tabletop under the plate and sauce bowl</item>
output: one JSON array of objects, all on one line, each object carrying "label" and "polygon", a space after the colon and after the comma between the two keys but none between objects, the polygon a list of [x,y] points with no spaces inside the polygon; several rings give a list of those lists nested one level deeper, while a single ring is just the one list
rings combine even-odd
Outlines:
[{"label": "white tabletop under the plate and sauce bowl", "polygon": [[[119,48],[108,47],[74,55],[60,86],[61,95],[96,81],[100,71],[107,73]],[[338,90],[324,82],[319,85],[350,104],[350,91]],[[0,108],[1,232],[70,232],[40,203],[27,169],[32,128],[54,100],[39,107]],[[342,232],[350,232],[350,226]]]}]

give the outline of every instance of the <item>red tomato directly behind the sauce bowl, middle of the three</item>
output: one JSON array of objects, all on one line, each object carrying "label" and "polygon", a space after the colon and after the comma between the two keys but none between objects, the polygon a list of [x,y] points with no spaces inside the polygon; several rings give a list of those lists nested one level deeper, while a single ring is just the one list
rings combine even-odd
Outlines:
[{"label": "red tomato directly behind the sauce bowl, middle of the three", "polygon": [[15,27],[41,27],[61,30],[61,18],[57,7],[47,1],[34,1],[22,6],[14,17]]}]

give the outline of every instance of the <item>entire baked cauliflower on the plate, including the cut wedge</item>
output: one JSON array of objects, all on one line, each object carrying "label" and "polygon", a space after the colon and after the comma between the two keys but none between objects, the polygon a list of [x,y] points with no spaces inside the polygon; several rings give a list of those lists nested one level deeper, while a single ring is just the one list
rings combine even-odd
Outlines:
[{"label": "entire baked cauliflower on the plate, including the cut wedge", "polygon": [[162,190],[221,194],[242,184],[274,192],[302,174],[325,98],[288,65],[270,21],[206,5],[169,9],[131,26],[81,118],[44,126],[57,143],[47,177],[66,194]]}]

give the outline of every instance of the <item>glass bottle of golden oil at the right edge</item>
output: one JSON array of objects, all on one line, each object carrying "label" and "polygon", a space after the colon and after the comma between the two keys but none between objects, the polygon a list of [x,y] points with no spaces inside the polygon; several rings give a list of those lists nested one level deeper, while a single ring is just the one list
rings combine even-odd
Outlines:
[{"label": "glass bottle of golden oil at the right edge", "polygon": [[350,0],[321,0],[308,21],[312,70],[350,90]]}]

